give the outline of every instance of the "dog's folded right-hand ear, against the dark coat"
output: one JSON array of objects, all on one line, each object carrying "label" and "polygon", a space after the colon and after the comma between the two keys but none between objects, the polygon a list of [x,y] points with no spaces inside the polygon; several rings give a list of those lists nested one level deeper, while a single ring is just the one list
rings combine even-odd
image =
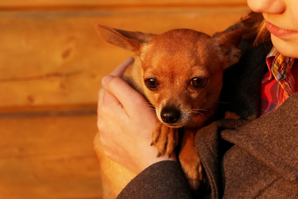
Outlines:
[{"label": "dog's folded right-hand ear, against the dark coat", "polygon": [[223,69],[226,69],[233,64],[237,64],[241,57],[241,50],[238,45],[241,42],[243,29],[234,30],[231,32],[220,32],[213,35],[214,38],[219,39],[221,50],[224,53],[225,63]]}]

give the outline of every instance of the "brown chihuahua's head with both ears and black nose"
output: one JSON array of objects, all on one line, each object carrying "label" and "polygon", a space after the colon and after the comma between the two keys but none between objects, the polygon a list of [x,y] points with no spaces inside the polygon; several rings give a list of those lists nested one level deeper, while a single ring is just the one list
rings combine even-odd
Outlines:
[{"label": "brown chihuahua's head with both ears and black nose", "polygon": [[201,109],[210,109],[219,98],[224,70],[241,56],[242,30],[211,37],[189,29],[156,35],[102,24],[95,28],[108,43],[139,57],[145,95],[169,127],[187,126]]}]

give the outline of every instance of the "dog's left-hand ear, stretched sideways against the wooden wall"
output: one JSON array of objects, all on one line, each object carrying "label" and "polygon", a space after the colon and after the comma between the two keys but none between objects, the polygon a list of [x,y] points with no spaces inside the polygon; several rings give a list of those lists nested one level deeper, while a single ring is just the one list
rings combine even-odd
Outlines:
[{"label": "dog's left-hand ear, stretched sideways against the wooden wall", "polygon": [[97,34],[106,42],[137,53],[140,45],[148,43],[155,34],[118,30],[103,24],[94,25]]}]

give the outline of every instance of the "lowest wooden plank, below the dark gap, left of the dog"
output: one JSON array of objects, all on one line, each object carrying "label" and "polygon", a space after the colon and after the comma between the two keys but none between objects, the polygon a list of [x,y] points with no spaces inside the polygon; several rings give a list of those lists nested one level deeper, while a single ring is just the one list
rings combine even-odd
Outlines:
[{"label": "lowest wooden plank, below the dark gap, left of the dog", "polygon": [[100,199],[96,115],[0,119],[3,199]]}]

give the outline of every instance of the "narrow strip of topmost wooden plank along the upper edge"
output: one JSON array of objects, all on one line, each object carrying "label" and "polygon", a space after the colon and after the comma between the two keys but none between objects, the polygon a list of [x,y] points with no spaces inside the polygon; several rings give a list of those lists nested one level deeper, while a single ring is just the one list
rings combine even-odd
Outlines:
[{"label": "narrow strip of topmost wooden plank along the upper edge", "polygon": [[27,7],[103,7],[103,6],[235,6],[246,5],[246,0],[11,0],[0,1],[0,8],[27,8]]}]

